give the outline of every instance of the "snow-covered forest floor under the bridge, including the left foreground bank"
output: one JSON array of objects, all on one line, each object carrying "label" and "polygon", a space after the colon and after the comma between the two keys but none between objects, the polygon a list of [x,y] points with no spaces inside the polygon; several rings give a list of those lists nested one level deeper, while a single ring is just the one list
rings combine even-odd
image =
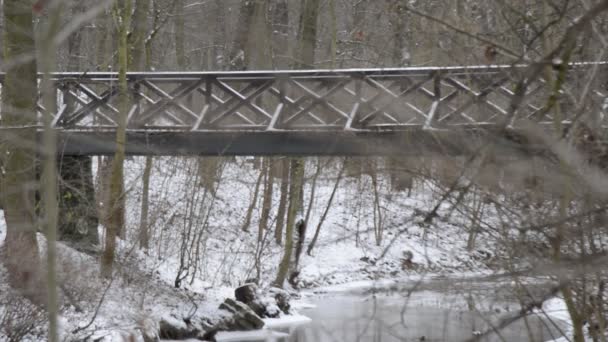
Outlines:
[{"label": "snow-covered forest floor under the bridge, including the left foreground bank", "polygon": [[[248,159],[237,159],[223,168],[214,196],[198,185],[196,159],[155,160],[150,183],[152,239],[146,253],[138,248],[136,238],[143,164],[142,159],[127,162],[127,236],[119,243],[113,280],[99,277],[97,257],[59,244],[58,277],[64,303],[60,323],[67,340],[107,336],[119,341],[119,336],[163,317],[214,321],[222,315],[218,305],[233,297],[236,287],[259,278],[260,287],[266,288],[275,279],[282,246],[274,242],[271,230],[259,244],[261,198],[248,229],[242,229],[259,174]],[[313,171],[307,170],[306,206]],[[337,172],[335,165],[327,165],[317,180],[305,246],[325,210]],[[273,208],[278,205],[279,183],[275,183]],[[375,197],[369,176],[345,177],[312,255],[303,253],[299,289],[290,291],[387,286],[423,277],[489,275],[499,269],[501,251],[483,232],[475,248],[467,250],[468,221],[448,202],[439,206],[435,224],[423,224],[425,213],[442,195],[435,188],[417,184],[408,195],[392,191],[381,178]],[[375,201],[383,227],[379,244]],[[0,217],[0,244],[5,232]],[[39,241],[44,255],[42,235]],[[413,264],[407,268],[402,267],[404,252],[413,255]],[[174,287],[178,274],[183,277],[179,289]],[[0,267],[0,290],[9,293],[5,277]],[[0,308],[0,317],[2,313]],[[40,329],[32,331],[31,340],[36,340]]]}]

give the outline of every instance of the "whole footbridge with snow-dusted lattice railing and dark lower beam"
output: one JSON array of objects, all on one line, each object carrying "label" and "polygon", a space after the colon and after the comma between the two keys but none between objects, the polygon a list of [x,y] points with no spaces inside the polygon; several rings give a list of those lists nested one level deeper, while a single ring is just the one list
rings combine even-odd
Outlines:
[{"label": "whole footbridge with snow-dusted lattice railing and dark lower beam", "polygon": [[[526,127],[566,129],[583,111],[608,124],[607,66],[572,64],[558,91],[539,78],[522,96],[516,89],[527,66],[129,73],[126,151],[420,155],[462,154],[487,143],[533,149]],[[114,153],[118,75],[52,78],[58,108],[39,105],[38,116],[53,115],[60,152]]]}]

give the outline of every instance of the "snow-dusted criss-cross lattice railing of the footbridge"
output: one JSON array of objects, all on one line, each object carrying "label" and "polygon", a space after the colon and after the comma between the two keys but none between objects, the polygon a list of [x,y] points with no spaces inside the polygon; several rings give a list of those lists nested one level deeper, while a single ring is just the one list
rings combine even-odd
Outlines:
[{"label": "snow-dusted criss-cross lattice railing of the footbridge", "polygon": [[[595,65],[571,66],[557,96],[559,119],[555,111],[546,110],[554,91],[543,79],[531,83],[521,105],[511,111],[525,66],[129,73],[128,127],[271,132],[517,127],[523,119],[568,124],[577,115],[574,109],[580,108],[577,101],[583,91],[591,94],[592,106],[602,110],[608,96],[605,85],[596,82],[591,92],[584,90]],[[608,74],[605,64],[600,69]],[[53,78],[58,108],[39,105],[39,111],[53,115],[57,128],[116,127],[116,73],[58,73]]]}]

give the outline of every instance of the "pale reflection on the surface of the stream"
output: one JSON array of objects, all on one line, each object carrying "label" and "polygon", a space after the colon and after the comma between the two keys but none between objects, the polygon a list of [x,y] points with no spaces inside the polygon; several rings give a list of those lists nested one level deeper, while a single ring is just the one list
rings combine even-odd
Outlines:
[{"label": "pale reflection on the surface of the stream", "polygon": [[[466,300],[464,305],[449,305],[446,301],[450,299],[439,293],[426,292],[419,297],[332,295],[317,298],[316,308],[301,310],[312,318],[312,323],[298,328],[290,341],[467,341],[507,315],[516,314],[515,308],[507,311],[509,303],[480,312],[468,311],[470,303],[467,305]],[[533,315],[509,325],[500,335],[493,333],[479,340],[548,341],[561,336],[562,329],[561,322],[549,322]]]}]

